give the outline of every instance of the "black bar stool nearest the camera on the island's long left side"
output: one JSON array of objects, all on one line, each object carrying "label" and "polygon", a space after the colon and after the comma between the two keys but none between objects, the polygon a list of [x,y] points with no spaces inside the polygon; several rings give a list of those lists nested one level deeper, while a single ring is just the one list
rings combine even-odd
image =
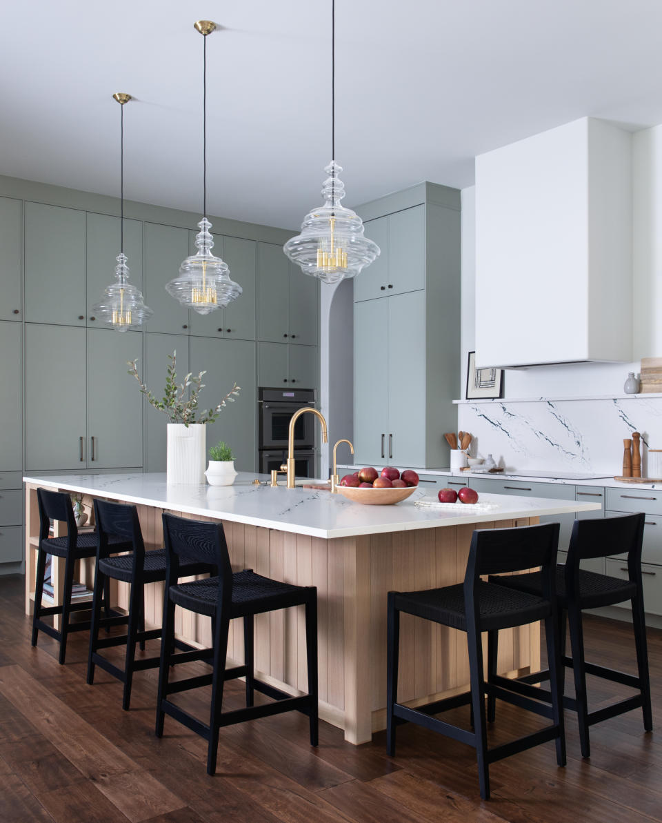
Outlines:
[{"label": "black bar stool nearest the camera on the island's long left side", "polygon": [[[310,743],[311,746],[317,746],[317,588],[280,583],[254,574],[250,569],[233,574],[221,523],[199,523],[164,514],[163,531],[168,552],[168,577],[165,582],[156,737],[162,737],[164,716],[169,714],[208,741],[207,774],[214,774],[221,727],[297,709],[310,718]],[[180,564],[187,560],[214,563],[218,566],[218,577],[178,584]],[[212,649],[174,653],[172,641],[175,606],[211,617]],[[305,606],[306,610],[308,695],[300,697],[292,697],[285,691],[269,686],[257,680],[253,674],[253,616],[291,606]],[[243,618],[244,663],[243,666],[226,668],[229,621],[236,617]],[[213,665],[211,674],[169,682],[170,666],[210,657]],[[223,685],[226,680],[234,677],[246,677],[247,708],[224,713],[221,711]],[[168,699],[168,695],[174,692],[210,685],[209,724],[201,723]],[[256,689],[274,698],[275,703],[254,706],[253,690]]]}]

